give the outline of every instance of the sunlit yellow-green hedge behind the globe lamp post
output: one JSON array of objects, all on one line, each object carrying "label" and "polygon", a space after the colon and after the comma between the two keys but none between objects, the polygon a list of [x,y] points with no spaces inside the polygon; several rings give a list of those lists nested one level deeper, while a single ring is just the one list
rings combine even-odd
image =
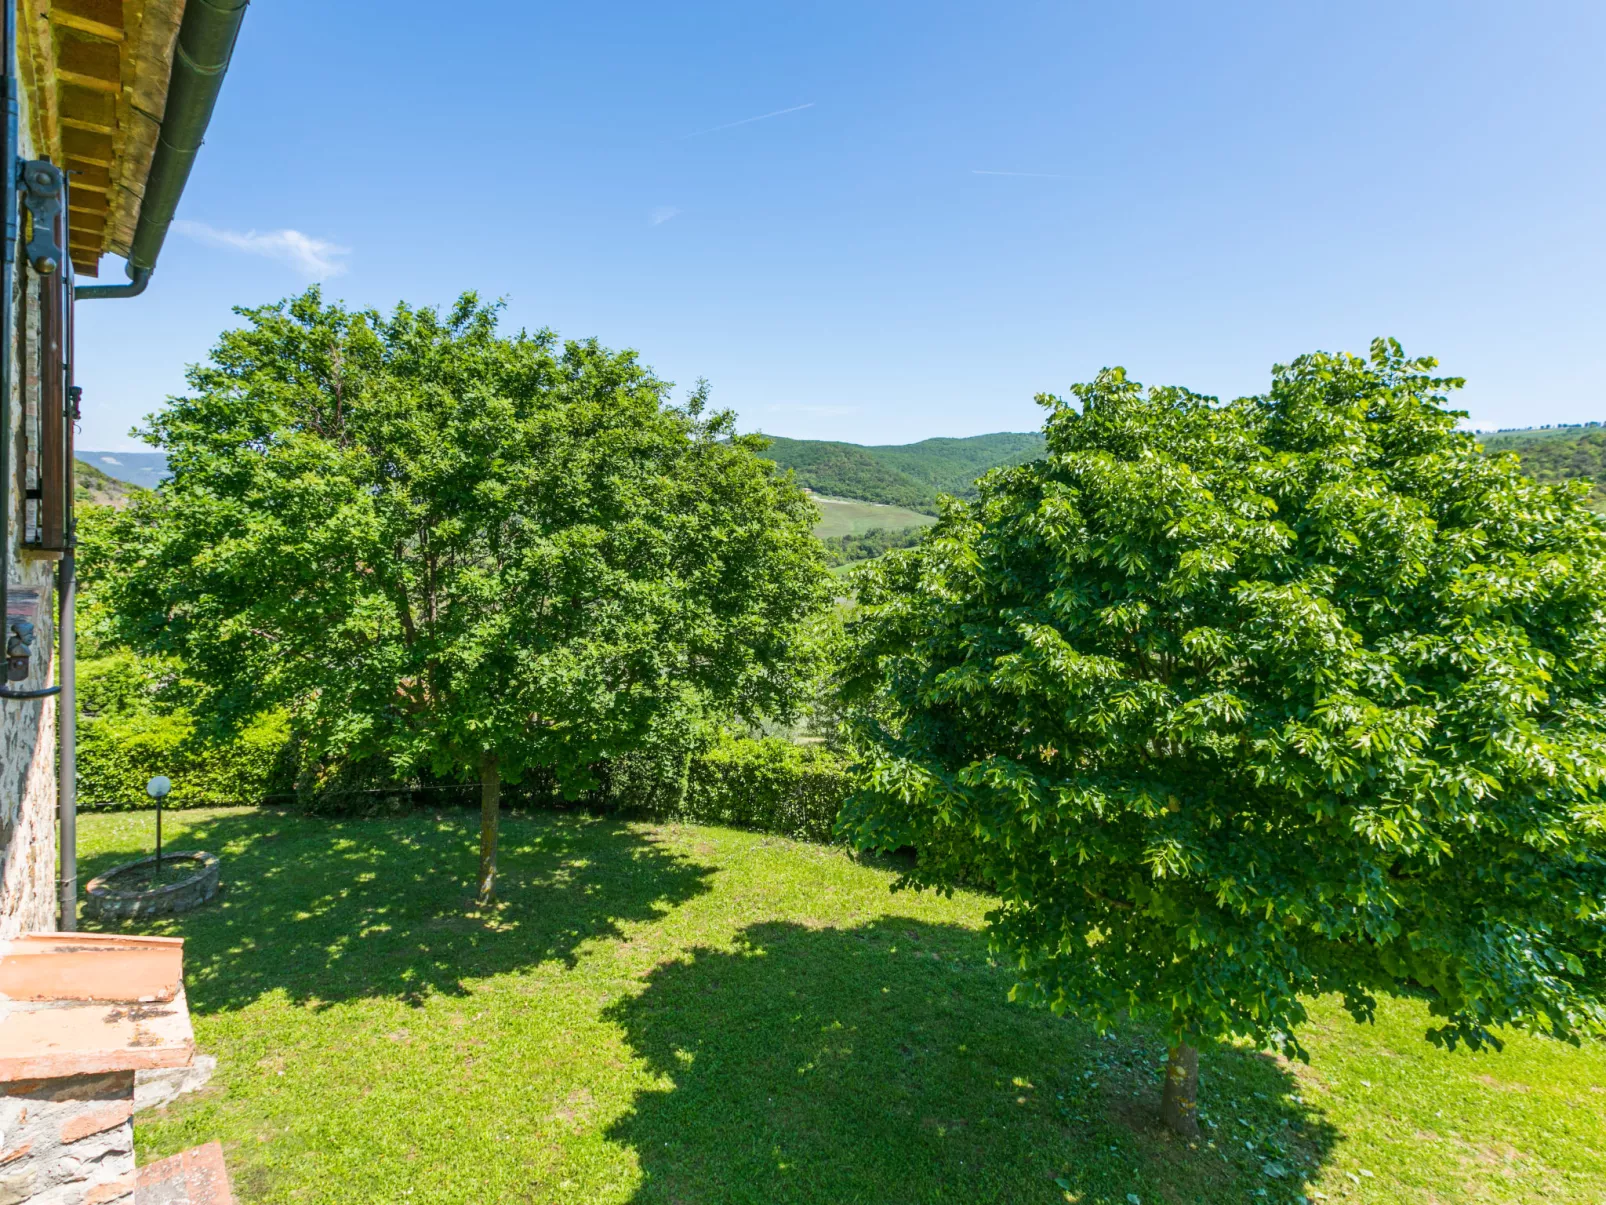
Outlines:
[{"label": "sunlit yellow-green hedge behind the globe lamp post", "polygon": [[283,712],[252,718],[226,741],[196,731],[181,707],[159,696],[172,667],[132,652],[79,659],[79,802],[146,807],[145,784],[173,781],[170,807],[255,803],[287,787]]}]

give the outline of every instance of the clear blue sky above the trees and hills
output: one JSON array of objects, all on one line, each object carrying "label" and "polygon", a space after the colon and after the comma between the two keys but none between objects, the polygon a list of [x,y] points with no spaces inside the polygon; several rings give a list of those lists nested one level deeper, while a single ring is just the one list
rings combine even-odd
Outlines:
[{"label": "clear blue sky above the trees and hills", "polygon": [[506,297],[784,435],[1036,427],[1113,363],[1257,392],[1375,334],[1479,424],[1606,419],[1603,59],[1601,0],[259,0],[191,225],[79,307],[80,447],[318,275]]}]

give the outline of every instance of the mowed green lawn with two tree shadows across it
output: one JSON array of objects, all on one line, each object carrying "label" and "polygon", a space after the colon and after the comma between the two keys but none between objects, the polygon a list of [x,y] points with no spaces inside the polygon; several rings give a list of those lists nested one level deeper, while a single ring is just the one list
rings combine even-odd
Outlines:
[{"label": "mowed green lawn with two tree shadows across it", "polygon": [[[80,819],[85,877],[151,813]],[[1606,1056],[1447,1054],[1426,1015],[1317,1001],[1312,1064],[1203,1060],[1208,1142],[1155,1125],[1163,1059],[1007,1003],[988,900],[750,832],[471,813],[178,811],[223,856],[186,938],[206,1091],[141,1162],[212,1139],[243,1202],[1603,1202]],[[1278,1174],[1280,1173],[1280,1174]]]}]

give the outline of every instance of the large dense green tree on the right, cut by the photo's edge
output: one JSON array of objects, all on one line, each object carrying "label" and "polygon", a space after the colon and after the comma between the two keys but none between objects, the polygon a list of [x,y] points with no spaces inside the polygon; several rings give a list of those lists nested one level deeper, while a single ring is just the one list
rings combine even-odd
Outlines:
[{"label": "large dense green tree on the right, cut by the photo's edge", "polygon": [[1302,996],[1429,1036],[1606,1009],[1606,527],[1380,341],[1219,405],[1105,371],[1047,455],[861,578],[845,827],[991,882],[1017,993],[1299,1054]]}]

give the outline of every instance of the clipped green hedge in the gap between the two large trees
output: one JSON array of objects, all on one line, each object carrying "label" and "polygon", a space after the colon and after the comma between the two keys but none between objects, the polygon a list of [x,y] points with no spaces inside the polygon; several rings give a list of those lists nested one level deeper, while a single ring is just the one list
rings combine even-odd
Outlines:
[{"label": "clipped green hedge in the gap between the two large trees", "polygon": [[689,824],[731,824],[798,840],[834,840],[848,794],[846,765],[825,749],[768,737],[726,737],[683,758],[613,763],[609,803]]}]

